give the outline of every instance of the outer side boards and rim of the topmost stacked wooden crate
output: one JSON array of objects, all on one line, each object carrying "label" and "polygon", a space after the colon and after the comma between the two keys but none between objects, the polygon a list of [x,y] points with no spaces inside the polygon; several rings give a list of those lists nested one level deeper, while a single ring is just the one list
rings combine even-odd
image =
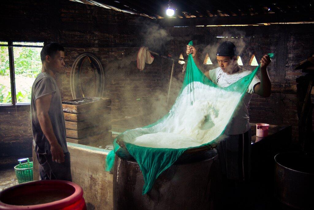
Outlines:
[{"label": "outer side boards and rim of the topmost stacked wooden crate", "polygon": [[[84,99],[84,98],[81,98]],[[77,101],[79,99],[69,100],[69,101]],[[65,101],[66,102],[66,101]],[[74,114],[80,114],[84,111],[89,111],[93,109],[98,109],[100,107],[110,106],[111,105],[111,99],[109,98],[102,98],[102,100],[99,101],[93,101],[81,105],[72,105],[72,104],[63,104],[63,111],[68,113],[74,113]]]}]

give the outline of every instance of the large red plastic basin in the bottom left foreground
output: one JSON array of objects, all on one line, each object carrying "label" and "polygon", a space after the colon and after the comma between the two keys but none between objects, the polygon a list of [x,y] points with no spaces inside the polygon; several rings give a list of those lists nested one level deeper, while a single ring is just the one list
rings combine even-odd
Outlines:
[{"label": "large red plastic basin in the bottom left foreground", "polygon": [[73,182],[40,180],[0,192],[0,209],[86,209],[83,189]]}]

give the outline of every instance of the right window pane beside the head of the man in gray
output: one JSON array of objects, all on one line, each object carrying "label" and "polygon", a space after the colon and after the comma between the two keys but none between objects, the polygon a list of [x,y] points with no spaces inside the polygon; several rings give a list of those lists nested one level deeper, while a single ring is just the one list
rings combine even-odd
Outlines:
[{"label": "right window pane beside the head of the man in gray", "polygon": [[41,48],[13,47],[16,103],[30,103],[31,89],[41,72]]}]

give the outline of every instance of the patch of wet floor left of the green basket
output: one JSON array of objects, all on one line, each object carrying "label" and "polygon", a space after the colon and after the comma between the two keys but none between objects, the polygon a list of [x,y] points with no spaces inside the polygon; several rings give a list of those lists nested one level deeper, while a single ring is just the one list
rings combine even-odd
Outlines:
[{"label": "patch of wet floor left of the green basket", "polygon": [[14,165],[0,168],[0,191],[18,183],[14,172]]}]

